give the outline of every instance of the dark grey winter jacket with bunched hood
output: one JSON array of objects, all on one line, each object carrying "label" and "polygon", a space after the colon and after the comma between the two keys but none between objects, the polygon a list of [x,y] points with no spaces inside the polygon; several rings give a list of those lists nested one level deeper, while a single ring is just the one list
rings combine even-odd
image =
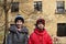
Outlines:
[{"label": "dark grey winter jacket with bunched hood", "polygon": [[10,33],[7,36],[7,44],[28,44],[28,29],[22,28],[21,32],[15,25],[10,28]]}]

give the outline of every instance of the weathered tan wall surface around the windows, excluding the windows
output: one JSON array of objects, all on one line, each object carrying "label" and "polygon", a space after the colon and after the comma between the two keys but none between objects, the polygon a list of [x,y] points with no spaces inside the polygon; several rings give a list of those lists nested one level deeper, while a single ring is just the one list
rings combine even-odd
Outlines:
[{"label": "weathered tan wall surface around the windows, excluding the windows", "polygon": [[[34,6],[33,2],[34,1],[42,1],[42,12],[34,12]],[[66,7],[66,0],[65,1],[65,7]],[[33,29],[35,28],[35,21],[38,18],[43,18],[45,19],[45,29],[47,30],[47,32],[51,34],[52,37],[56,36],[56,32],[57,32],[57,23],[66,23],[66,14],[56,14],[55,10],[56,10],[56,0],[29,0],[26,2],[23,2],[22,0],[20,0],[20,11],[12,13],[11,10],[9,10],[8,12],[8,16],[9,16],[9,26],[10,24],[14,23],[14,18],[18,13],[22,14],[22,16],[25,19],[25,25],[29,29],[30,34],[33,32]],[[65,8],[66,9],[66,8]],[[0,16],[1,20],[0,25],[3,25],[4,23],[4,13],[2,13],[2,16]],[[3,29],[2,29],[3,30]],[[0,32],[0,34],[3,31]],[[1,37],[3,36],[3,33],[0,35]],[[57,37],[57,36],[56,36]],[[59,41],[62,43],[66,42],[66,37],[58,37]]]}]

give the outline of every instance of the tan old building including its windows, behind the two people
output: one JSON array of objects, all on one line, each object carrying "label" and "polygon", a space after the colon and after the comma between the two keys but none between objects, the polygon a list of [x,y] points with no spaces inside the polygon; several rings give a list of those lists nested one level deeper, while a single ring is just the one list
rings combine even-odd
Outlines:
[{"label": "tan old building including its windows, behind the two people", "polygon": [[[13,0],[8,12],[9,28],[14,24],[16,14],[22,14],[25,19],[30,34],[35,28],[35,21],[38,18],[45,19],[45,28],[52,38],[58,38],[56,42],[66,44],[66,0]],[[3,31],[4,12],[0,7],[0,37],[3,36]]]}]

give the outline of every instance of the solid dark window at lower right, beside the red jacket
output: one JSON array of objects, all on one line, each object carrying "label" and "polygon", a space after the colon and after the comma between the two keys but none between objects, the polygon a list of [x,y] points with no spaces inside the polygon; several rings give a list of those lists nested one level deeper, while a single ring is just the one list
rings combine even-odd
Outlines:
[{"label": "solid dark window at lower right, beside the red jacket", "polygon": [[66,36],[66,23],[57,23],[57,36]]}]

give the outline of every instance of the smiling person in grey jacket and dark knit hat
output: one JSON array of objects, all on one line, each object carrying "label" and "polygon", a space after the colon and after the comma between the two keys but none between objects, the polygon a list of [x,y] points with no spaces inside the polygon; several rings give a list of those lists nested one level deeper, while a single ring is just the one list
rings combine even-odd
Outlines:
[{"label": "smiling person in grey jacket and dark knit hat", "polygon": [[24,19],[18,15],[14,20],[15,25],[10,28],[7,36],[7,44],[28,44],[28,29],[23,25]]}]

